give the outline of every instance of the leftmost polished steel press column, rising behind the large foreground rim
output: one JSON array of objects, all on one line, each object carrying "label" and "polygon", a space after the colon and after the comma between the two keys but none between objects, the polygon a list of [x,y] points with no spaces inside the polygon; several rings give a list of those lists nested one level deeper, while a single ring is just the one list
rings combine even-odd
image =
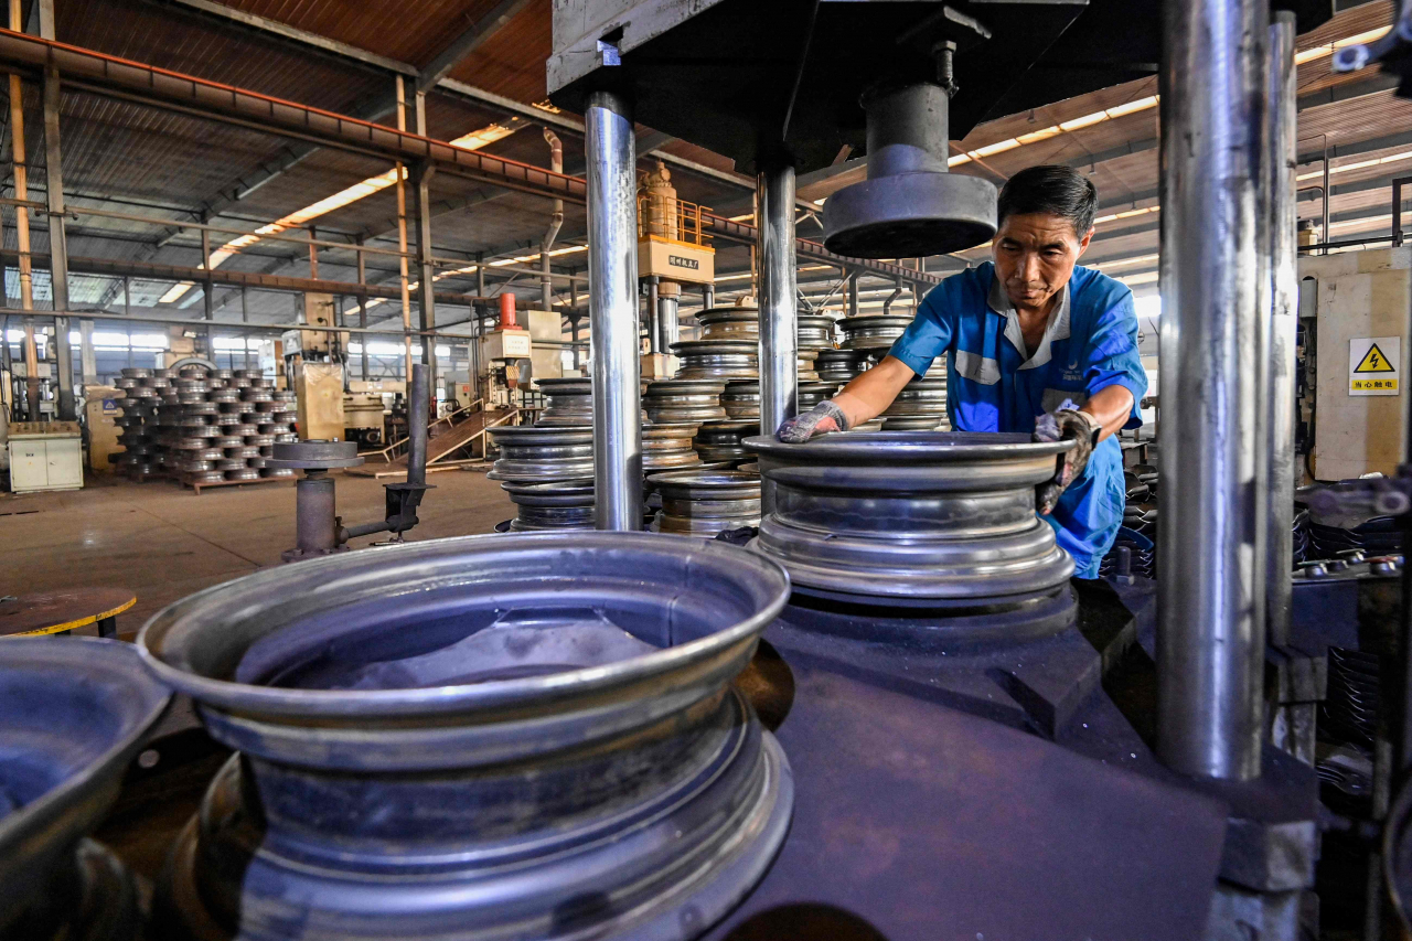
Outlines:
[{"label": "leftmost polished steel press column, rising behind the large foreground rim", "polygon": [[628,102],[593,92],[583,116],[597,528],[642,528],[637,325],[637,141]]}]

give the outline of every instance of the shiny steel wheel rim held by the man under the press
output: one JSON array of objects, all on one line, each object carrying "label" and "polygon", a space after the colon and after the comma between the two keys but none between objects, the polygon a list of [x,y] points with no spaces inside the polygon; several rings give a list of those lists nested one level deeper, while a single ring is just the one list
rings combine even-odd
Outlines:
[{"label": "shiny steel wheel rim held by the man under the press", "polygon": [[774,487],[755,548],[796,585],[861,598],[1011,599],[1052,592],[1073,560],[1034,487],[1073,442],[1019,434],[746,438]]}]

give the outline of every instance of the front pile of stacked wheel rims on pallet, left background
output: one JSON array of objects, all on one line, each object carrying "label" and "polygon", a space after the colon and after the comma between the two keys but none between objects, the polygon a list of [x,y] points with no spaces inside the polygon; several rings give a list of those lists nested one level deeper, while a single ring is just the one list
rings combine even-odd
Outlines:
[{"label": "front pile of stacked wheel rims on pallet, left background", "polygon": [[275,444],[298,441],[295,394],[273,386],[258,370],[184,369],[157,408],[167,470],[188,483],[292,478],[265,466]]}]

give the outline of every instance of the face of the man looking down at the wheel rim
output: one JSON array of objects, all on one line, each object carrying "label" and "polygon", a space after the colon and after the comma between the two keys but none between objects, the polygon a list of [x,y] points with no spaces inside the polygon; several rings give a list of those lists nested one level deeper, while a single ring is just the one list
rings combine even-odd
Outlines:
[{"label": "face of the man looking down at the wheel rim", "polygon": [[1017,308],[1048,304],[1069,283],[1091,237],[1091,227],[1080,237],[1072,222],[1048,212],[1005,216],[991,254],[1010,302]]}]

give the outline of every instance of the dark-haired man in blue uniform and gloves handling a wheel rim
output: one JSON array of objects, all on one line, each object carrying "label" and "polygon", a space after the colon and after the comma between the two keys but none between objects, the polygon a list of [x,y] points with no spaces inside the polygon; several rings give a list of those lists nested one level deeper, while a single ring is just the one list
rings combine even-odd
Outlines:
[{"label": "dark-haired man in blue uniform and gloves handling a wheel rim", "polygon": [[957,431],[1010,431],[1077,445],[1039,489],[1038,509],[1073,555],[1079,578],[1123,523],[1123,454],[1113,437],[1142,424],[1147,376],[1132,292],[1075,267],[1093,237],[1099,194],[1069,167],[1031,167],[1000,191],[993,263],[955,274],[875,367],[837,396],[785,421],[799,444],[877,417],[904,386],[946,356],[946,410]]}]

